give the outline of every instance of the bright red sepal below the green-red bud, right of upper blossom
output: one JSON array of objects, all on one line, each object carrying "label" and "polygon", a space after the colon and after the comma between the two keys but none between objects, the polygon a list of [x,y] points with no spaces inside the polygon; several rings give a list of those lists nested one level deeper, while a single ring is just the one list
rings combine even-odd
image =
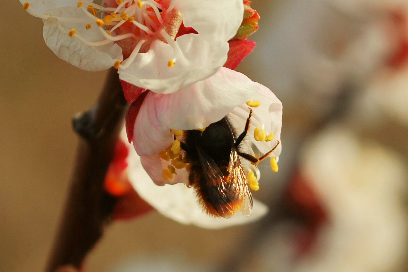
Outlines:
[{"label": "bright red sepal below the green-red bud, right of upper blossom", "polygon": [[230,49],[228,51],[228,59],[225,62],[224,67],[235,70],[244,57],[253,51],[256,42],[235,39],[229,41],[228,44]]}]

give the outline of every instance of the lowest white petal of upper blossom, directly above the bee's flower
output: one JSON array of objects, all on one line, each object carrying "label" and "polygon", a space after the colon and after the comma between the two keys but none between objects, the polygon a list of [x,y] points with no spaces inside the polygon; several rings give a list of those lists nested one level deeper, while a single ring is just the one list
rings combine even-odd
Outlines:
[{"label": "lowest white petal of upper blossom, directly above the bee's flower", "polygon": [[[227,60],[226,42],[214,45],[201,35],[186,34],[175,44],[179,47],[177,55],[171,45],[153,41],[149,51],[138,53],[130,66],[119,67],[120,79],[156,93],[174,93],[210,77]],[[168,67],[168,61],[175,56],[175,65]]]}]

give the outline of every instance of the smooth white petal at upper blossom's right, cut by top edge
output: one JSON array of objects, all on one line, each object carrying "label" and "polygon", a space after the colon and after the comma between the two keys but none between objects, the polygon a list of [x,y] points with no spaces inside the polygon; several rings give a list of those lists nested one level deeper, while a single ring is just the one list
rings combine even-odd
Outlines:
[{"label": "smooth white petal at upper blossom's right, cut by top edge", "polygon": [[182,12],[186,27],[193,27],[204,39],[216,44],[235,36],[244,14],[242,0],[177,1],[175,8]]}]

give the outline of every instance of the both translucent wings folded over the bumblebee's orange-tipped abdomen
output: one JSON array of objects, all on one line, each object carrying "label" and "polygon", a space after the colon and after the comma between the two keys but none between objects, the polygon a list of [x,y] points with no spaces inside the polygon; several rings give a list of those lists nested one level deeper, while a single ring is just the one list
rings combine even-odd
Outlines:
[{"label": "both translucent wings folded over the bumblebee's orange-tipped abdomen", "polygon": [[[252,195],[236,150],[231,150],[229,176],[224,177],[220,167],[204,150],[197,148],[206,181],[208,200],[219,215],[229,218],[242,210],[248,216],[252,210]],[[211,210],[210,210],[211,211]]]}]

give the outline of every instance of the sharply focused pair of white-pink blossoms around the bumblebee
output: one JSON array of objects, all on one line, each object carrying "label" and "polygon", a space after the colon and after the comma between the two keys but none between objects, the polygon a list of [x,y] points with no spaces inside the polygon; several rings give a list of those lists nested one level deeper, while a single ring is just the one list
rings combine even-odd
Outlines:
[{"label": "sharply focused pair of white-pink blossoms around the bumblebee", "polygon": [[[42,18],[44,40],[58,57],[88,71],[118,69],[130,104],[127,138],[137,153],[129,154],[129,179],[158,210],[171,208],[154,203],[157,196],[150,196],[155,189],[143,191],[139,165],[156,185],[188,184],[188,164],[180,152],[182,132],[204,130],[226,116],[242,131],[252,113],[243,149],[259,157],[274,148],[268,155],[277,171],[282,104],[267,87],[234,70],[255,46],[247,37],[257,30],[259,15],[250,1],[20,2]],[[244,159],[242,164],[248,184],[257,190],[259,170]],[[138,174],[133,175],[133,169]],[[188,194],[195,198],[191,189]],[[266,212],[265,207],[259,210],[259,216]],[[177,212],[183,217],[179,221],[197,223],[192,213]]]}]

